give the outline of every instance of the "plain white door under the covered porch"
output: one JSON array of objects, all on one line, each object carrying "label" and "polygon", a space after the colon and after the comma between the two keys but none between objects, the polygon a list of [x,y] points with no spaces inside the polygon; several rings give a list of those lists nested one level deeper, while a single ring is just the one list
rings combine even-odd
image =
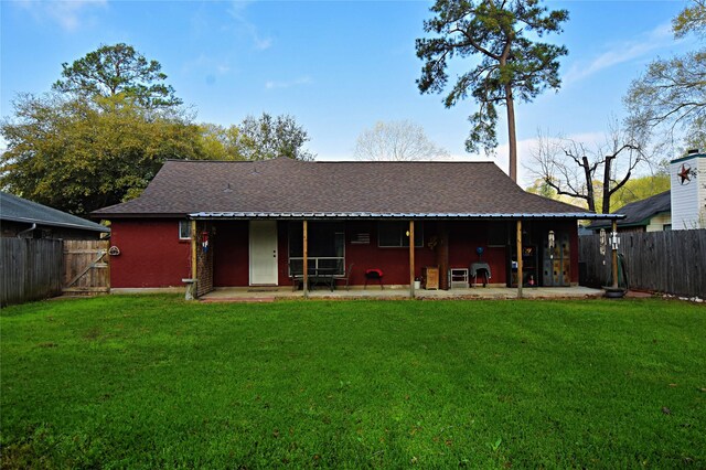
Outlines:
[{"label": "plain white door under the covered porch", "polygon": [[277,286],[276,221],[250,221],[250,286]]}]

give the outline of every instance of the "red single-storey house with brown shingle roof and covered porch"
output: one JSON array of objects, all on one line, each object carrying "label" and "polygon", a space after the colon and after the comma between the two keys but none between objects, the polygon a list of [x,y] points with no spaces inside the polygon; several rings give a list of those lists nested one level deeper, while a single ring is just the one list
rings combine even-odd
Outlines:
[{"label": "red single-storey house with brown shingle roof and covered porch", "polygon": [[577,221],[620,217],[526,193],[492,162],[286,158],[167,161],[140,197],[92,215],[111,222],[113,289],[197,278],[199,295],[292,286],[304,259],[336,278],[353,265],[352,286],[368,269],[385,286],[479,271],[514,286],[517,270],[525,286],[576,285]]}]

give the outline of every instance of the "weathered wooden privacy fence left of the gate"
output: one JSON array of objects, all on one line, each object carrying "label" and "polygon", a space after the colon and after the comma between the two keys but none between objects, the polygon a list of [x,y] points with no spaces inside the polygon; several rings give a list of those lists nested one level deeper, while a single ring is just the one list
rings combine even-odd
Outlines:
[{"label": "weathered wooden privacy fence left of the gate", "polygon": [[62,242],[0,238],[0,305],[62,293]]}]

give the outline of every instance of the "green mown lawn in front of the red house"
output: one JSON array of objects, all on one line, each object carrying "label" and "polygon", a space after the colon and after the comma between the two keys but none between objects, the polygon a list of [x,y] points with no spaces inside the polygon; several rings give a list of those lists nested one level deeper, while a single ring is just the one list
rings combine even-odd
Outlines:
[{"label": "green mown lawn in front of the red house", "polygon": [[706,467],[706,308],[663,300],[0,312],[4,468]]}]

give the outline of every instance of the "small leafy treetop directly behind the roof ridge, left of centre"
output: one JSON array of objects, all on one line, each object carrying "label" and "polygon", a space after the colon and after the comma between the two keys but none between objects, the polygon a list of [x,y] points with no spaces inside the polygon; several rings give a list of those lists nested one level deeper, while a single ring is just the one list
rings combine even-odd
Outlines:
[{"label": "small leafy treetop directly behind the roof ridge, left of centre", "polygon": [[293,117],[272,117],[267,113],[255,118],[248,116],[237,126],[236,145],[245,160],[267,160],[287,157],[295,160],[313,160],[314,154],[303,148],[309,135]]}]

